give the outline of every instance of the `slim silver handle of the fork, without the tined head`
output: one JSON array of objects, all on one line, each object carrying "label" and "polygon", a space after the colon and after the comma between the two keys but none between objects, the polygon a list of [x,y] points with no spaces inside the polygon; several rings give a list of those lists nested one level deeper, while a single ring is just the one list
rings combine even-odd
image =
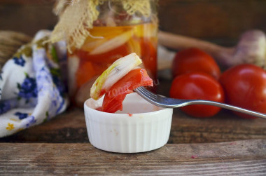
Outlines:
[{"label": "slim silver handle of the fork, without the tined head", "polygon": [[207,104],[207,105],[212,105],[212,106],[216,106],[216,107],[221,107],[224,109],[229,109],[232,111],[239,111],[239,112],[244,113],[244,114],[248,114],[251,116],[257,116],[257,117],[260,117],[262,119],[266,119],[266,114],[256,112],[256,111],[251,111],[251,110],[244,109],[241,107],[235,107],[235,106],[221,103],[221,102],[213,102],[213,101],[208,101],[208,100],[190,100],[190,101],[187,101],[186,103],[184,103],[182,105],[184,107],[184,106],[191,105],[191,104]]}]

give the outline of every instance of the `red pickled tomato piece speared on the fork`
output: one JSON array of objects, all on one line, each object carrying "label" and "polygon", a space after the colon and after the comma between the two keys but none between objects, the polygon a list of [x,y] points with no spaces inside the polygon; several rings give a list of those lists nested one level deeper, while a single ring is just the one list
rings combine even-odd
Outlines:
[{"label": "red pickled tomato piece speared on the fork", "polygon": [[114,113],[122,110],[125,96],[140,86],[153,86],[153,80],[145,69],[133,69],[105,94],[102,111]]}]

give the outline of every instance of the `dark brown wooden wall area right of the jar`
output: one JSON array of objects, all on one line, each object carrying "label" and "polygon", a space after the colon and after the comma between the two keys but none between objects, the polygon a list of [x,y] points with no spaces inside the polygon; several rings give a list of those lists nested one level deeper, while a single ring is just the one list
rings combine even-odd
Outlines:
[{"label": "dark brown wooden wall area right of the jar", "polygon": [[160,1],[160,28],[223,45],[232,45],[248,29],[266,32],[266,1]]}]

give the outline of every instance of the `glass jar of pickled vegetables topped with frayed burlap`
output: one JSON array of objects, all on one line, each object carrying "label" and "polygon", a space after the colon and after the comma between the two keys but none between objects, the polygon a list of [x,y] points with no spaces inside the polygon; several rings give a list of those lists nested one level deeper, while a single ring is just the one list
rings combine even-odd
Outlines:
[{"label": "glass jar of pickled vegetables topped with frayed burlap", "polygon": [[66,40],[72,102],[83,106],[94,80],[115,60],[137,53],[148,74],[157,71],[157,0],[59,0],[50,41]]}]

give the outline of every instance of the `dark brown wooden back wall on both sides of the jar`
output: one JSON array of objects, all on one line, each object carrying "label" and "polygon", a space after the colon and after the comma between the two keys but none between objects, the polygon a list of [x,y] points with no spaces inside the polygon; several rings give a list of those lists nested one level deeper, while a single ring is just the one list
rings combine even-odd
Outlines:
[{"label": "dark brown wooden back wall on both sides of the jar", "polygon": [[[0,0],[0,30],[34,35],[52,29],[55,0]],[[265,0],[160,0],[160,29],[224,46],[237,42],[247,29],[266,32]]]}]

